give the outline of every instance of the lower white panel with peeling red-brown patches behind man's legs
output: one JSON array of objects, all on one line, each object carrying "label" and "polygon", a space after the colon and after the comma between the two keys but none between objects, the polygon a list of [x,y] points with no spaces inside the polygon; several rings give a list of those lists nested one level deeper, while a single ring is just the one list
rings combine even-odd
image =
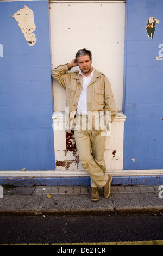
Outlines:
[{"label": "lower white panel with peeling red-brown patches behind man's legs", "polygon": [[[58,117],[56,119],[55,117]],[[65,127],[65,115],[61,112],[53,113],[53,123],[57,120],[58,127]],[[112,124],[112,137],[107,137],[105,143],[105,162],[106,170],[123,169],[123,126],[126,117],[122,112],[118,112],[116,121]],[[53,128],[54,131],[54,128]],[[115,132],[116,131],[116,132]],[[111,147],[112,145],[112,147]],[[74,131],[68,133],[65,129],[56,129],[54,131],[54,148],[55,148],[55,170],[68,174],[73,171],[83,173],[84,168],[79,160]],[[92,151],[91,151],[92,154]],[[85,171],[84,171],[85,172]]]}]

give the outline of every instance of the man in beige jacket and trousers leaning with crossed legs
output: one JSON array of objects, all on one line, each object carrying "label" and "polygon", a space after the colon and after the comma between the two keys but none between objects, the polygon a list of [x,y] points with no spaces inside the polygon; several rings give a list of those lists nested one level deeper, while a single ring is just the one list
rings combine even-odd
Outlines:
[{"label": "man in beige jacket and trousers leaning with crossed legs", "polygon": [[[68,72],[76,66],[80,71]],[[108,198],[112,176],[105,173],[104,135],[108,113],[111,122],[117,114],[110,82],[92,67],[92,54],[86,49],[79,50],[71,62],[53,69],[52,76],[66,90],[68,129],[75,119],[74,137],[79,160],[91,178],[91,200],[99,200],[98,187],[103,187],[104,198]]]}]

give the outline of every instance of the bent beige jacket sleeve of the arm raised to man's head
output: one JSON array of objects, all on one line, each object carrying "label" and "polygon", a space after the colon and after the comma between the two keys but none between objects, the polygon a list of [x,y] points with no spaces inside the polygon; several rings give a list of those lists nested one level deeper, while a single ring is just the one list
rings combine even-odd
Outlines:
[{"label": "bent beige jacket sleeve of the arm raised to man's head", "polygon": [[[68,63],[67,63],[68,64]],[[57,68],[53,69],[51,72],[52,77],[54,77],[57,82],[66,90],[67,84],[70,83],[70,74],[66,73],[70,71],[68,65],[60,65]]]}]

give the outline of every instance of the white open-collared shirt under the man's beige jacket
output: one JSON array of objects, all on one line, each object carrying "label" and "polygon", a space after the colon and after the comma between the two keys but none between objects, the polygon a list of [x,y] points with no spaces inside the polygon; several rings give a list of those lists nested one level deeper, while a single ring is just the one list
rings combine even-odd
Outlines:
[{"label": "white open-collared shirt under the man's beige jacket", "polygon": [[94,69],[91,72],[91,74],[87,77],[82,74],[81,70],[79,74],[83,76],[83,90],[78,101],[77,112],[79,114],[86,114],[87,113],[87,86],[91,82],[91,79],[94,74]]}]

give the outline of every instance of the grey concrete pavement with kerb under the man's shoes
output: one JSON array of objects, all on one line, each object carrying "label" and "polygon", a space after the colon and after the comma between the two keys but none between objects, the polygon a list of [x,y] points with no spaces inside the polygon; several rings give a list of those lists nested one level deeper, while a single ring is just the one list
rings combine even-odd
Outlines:
[{"label": "grey concrete pavement with kerb under the man's shoes", "polygon": [[36,186],[4,188],[1,215],[163,214],[163,186],[111,186],[104,199],[90,199],[90,186]]}]

